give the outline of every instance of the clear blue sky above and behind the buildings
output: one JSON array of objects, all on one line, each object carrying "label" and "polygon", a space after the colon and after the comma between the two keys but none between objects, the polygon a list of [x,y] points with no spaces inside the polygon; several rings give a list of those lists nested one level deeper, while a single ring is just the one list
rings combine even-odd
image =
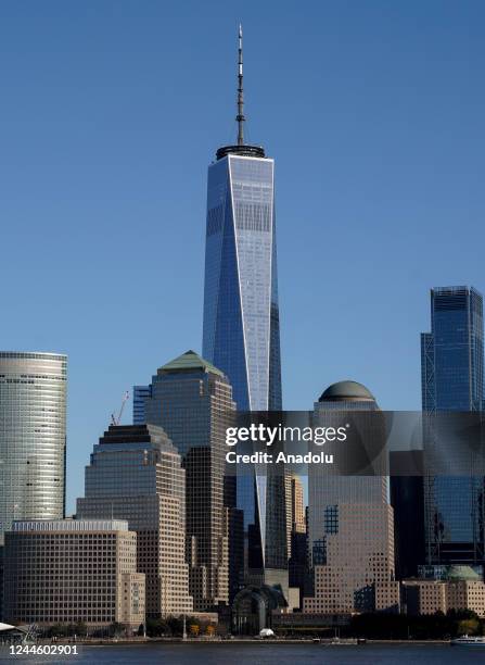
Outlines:
[{"label": "clear blue sky above and behind the buildings", "polygon": [[430,287],[485,289],[482,1],[3,0],[0,348],[69,355],[69,510],[123,392],[201,349],[240,20],[285,407],[342,378],[419,407]]}]

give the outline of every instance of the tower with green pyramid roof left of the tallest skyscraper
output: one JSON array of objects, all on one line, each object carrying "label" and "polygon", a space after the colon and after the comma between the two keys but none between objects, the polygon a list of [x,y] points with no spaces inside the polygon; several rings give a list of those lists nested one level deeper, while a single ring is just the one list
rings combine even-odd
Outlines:
[{"label": "tower with green pyramid roof left of the tallest skyscraper", "polygon": [[[225,476],[226,429],[235,404],[226,376],[194,351],[157,371],[146,419],[163,427],[182,457],[190,592],[194,608],[229,602],[239,586],[243,543],[234,536],[235,478]],[[231,582],[231,584],[230,584]]]}]

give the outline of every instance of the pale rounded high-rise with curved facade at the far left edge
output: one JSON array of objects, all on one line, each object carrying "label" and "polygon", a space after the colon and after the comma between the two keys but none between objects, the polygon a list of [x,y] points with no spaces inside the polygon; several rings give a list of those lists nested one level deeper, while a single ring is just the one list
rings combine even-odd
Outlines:
[{"label": "pale rounded high-rise with curved facade at the far left edge", "polygon": [[0,351],[0,544],[14,519],[64,517],[67,356]]}]

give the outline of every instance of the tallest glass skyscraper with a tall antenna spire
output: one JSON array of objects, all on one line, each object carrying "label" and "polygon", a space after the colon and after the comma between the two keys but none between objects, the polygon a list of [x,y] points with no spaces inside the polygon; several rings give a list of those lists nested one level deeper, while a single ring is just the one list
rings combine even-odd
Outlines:
[{"label": "tallest glass skyscraper with a tall antenna spire", "polygon": [[[219,148],[208,168],[203,355],[229,377],[239,411],[278,411],[275,161],[244,141],[241,28],[237,122],[237,143]],[[248,566],[283,569],[284,479],[239,478],[238,505],[244,511]]]}]

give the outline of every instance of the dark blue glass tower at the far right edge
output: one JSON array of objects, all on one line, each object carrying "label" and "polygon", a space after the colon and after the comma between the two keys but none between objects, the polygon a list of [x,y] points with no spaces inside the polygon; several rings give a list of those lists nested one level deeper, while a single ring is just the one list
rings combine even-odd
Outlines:
[{"label": "dark blue glass tower at the far right edge", "polygon": [[[421,335],[422,407],[482,411],[483,299],[469,287],[431,291],[431,332]],[[426,438],[426,444],[442,446]],[[446,451],[441,451],[446,454]],[[482,564],[484,481],[481,477],[424,480],[429,564]]]}]

